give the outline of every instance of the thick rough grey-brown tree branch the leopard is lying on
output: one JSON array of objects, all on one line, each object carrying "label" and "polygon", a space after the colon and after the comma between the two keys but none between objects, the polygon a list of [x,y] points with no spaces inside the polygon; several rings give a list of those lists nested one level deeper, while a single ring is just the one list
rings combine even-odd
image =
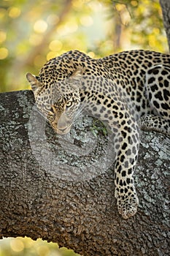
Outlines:
[{"label": "thick rough grey-brown tree branch the leopard is lying on", "polygon": [[[93,152],[79,154],[91,143],[82,139],[81,126],[90,136],[92,119],[85,117],[76,127],[77,155],[75,148],[72,155],[64,136],[58,139],[41,116],[34,118],[33,107],[31,91],[0,94],[0,237],[42,238],[84,256],[170,255],[169,138],[141,133],[134,178],[139,208],[125,220],[117,212],[113,165],[98,173],[90,173],[90,167],[89,175],[79,173],[85,162],[96,165],[95,157],[102,159],[106,144],[98,133]],[[42,124],[45,140],[39,133]]]}]

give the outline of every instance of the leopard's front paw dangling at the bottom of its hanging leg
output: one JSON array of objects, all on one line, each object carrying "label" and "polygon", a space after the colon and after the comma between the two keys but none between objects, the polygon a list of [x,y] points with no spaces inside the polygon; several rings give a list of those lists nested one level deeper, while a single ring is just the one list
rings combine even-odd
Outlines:
[{"label": "leopard's front paw dangling at the bottom of its hanging leg", "polygon": [[123,219],[134,216],[139,205],[139,199],[136,192],[128,192],[127,195],[117,192],[117,209]]}]

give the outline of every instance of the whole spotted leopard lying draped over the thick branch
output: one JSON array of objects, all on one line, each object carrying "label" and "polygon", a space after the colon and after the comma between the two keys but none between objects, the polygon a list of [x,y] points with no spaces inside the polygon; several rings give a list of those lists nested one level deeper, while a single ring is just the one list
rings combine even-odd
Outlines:
[{"label": "whole spotted leopard lying draped over the thick branch", "polygon": [[139,199],[134,169],[141,129],[170,136],[170,55],[125,50],[93,59],[69,50],[47,61],[39,75],[26,74],[36,106],[59,135],[74,129],[80,109],[114,134],[117,210],[134,216]]}]

